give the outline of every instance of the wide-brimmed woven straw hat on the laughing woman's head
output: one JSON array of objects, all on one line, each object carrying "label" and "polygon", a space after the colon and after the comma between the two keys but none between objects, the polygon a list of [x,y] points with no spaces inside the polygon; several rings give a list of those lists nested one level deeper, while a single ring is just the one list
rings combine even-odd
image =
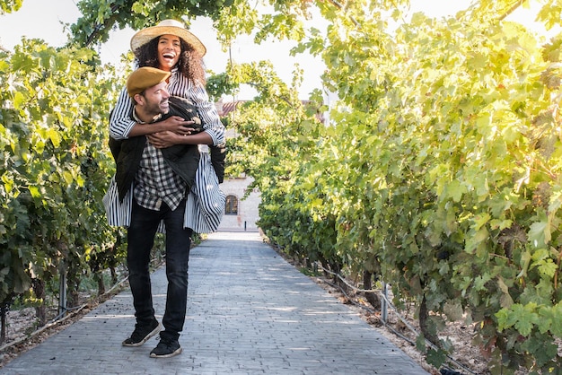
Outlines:
[{"label": "wide-brimmed woven straw hat on the laughing woman's head", "polygon": [[195,48],[201,56],[206,54],[206,48],[203,43],[201,43],[201,40],[189,32],[183,23],[176,20],[164,20],[156,26],[136,32],[136,34],[133,35],[133,38],[131,38],[131,50],[135,52],[136,48],[139,48],[148,43],[150,40],[164,34],[180,37],[193,46],[193,48]]}]

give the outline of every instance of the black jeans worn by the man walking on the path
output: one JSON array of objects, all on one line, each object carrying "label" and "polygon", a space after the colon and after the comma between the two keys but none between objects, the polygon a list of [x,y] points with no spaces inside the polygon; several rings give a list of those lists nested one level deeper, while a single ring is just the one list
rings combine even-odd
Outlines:
[{"label": "black jeans worn by the man walking on the path", "polygon": [[133,200],[131,224],[127,231],[128,280],[133,293],[136,323],[147,325],[154,321],[152,288],[150,283],[150,250],[161,220],[166,226],[166,277],[168,293],[162,325],[162,337],[178,339],[183,329],[188,303],[188,262],[191,229],[183,228],[185,200],[177,209],[162,204],[160,211],[148,210]]}]

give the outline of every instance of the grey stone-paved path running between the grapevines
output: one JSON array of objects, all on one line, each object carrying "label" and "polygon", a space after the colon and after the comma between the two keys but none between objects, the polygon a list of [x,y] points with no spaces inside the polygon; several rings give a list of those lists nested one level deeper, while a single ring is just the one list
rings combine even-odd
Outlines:
[{"label": "grey stone-paved path running between the grapevines", "polygon": [[[162,318],[166,280],[153,274]],[[264,244],[217,232],[189,258],[183,353],[121,346],[134,328],[128,290],[9,362],[0,374],[427,374],[355,312]]]}]

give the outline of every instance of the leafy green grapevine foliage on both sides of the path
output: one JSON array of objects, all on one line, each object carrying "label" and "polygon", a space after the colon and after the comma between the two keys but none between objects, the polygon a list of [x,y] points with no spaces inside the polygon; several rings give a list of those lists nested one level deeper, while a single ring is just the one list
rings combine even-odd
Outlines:
[{"label": "leafy green grapevine foliage on both sides of the path", "polygon": [[[397,306],[416,306],[418,349],[437,367],[454,350],[443,327],[466,319],[493,373],[559,370],[562,38],[505,21],[528,4],[474,2],[436,20],[400,0],[259,2],[268,12],[243,0],[80,1],[66,48],[30,40],[0,53],[0,301],[63,261],[85,273],[83,260],[112,246],[99,201],[123,77],[92,45],[113,28],[207,16],[224,46],[252,32],[298,41],[293,53],[320,56],[337,97],[299,100],[302,72],[285,83],[267,61],[209,80],[214,95],[258,90],[228,119],[239,135],[229,168],[254,179],[268,238],[390,283]],[[562,0],[541,4],[538,20],[559,26]],[[326,30],[307,26],[312,10]]]}]

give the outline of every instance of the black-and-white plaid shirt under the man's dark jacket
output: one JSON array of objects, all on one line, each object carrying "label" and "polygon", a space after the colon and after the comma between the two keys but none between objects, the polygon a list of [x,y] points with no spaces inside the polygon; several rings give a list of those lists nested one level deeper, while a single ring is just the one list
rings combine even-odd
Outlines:
[{"label": "black-and-white plaid shirt under the man's dark jacket", "polygon": [[[133,111],[136,121],[136,113]],[[188,184],[180,178],[164,160],[162,152],[146,142],[143,157],[135,176],[134,196],[136,203],[159,211],[162,203],[175,210],[185,197]]]}]

